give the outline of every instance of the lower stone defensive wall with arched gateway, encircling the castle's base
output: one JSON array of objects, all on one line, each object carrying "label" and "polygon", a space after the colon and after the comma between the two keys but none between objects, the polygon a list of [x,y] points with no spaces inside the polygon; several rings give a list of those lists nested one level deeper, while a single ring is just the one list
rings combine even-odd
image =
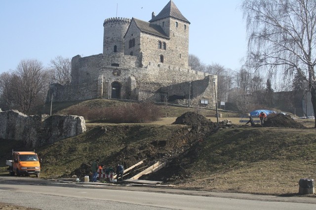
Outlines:
[{"label": "lower stone defensive wall with arched gateway, encircling the castle's base", "polygon": [[[53,101],[107,98],[108,94],[111,98],[113,83],[119,84],[121,99],[161,101],[161,96],[188,96],[189,82],[193,97],[212,99],[213,78],[217,77],[164,63],[149,62],[139,67],[136,57],[121,53],[84,58],[78,55],[72,59],[71,85],[52,84],[46,102],[51,94]],[[215,100],[210,100],[208,106],[214,107]]]}]

